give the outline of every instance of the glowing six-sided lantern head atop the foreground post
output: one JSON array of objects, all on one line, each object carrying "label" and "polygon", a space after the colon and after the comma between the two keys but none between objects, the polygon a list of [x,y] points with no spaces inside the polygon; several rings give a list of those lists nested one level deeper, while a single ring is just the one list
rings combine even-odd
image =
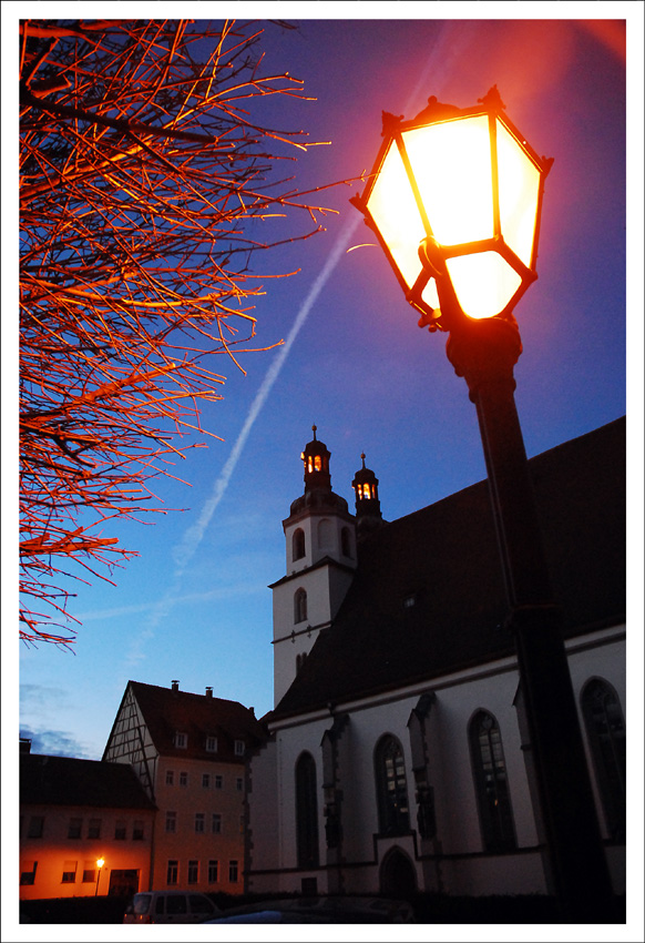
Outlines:
[{"label": "glowing six-sided lantern head atop the foreground post", "polygon": [[383,143],[351,202],[376,233],[430,329],[508,316],[536,277],[539,158],[503,113],[496,87],[474,108],[428,100],[412,121],[383,112]]}]

